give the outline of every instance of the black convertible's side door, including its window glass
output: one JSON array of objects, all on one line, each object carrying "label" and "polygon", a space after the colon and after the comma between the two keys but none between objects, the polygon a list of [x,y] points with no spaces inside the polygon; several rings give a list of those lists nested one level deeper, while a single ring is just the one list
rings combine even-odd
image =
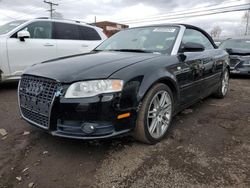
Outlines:
[{"label": "black convertible's side door, including its window glass", "polygon": [[203,80],[209,76],[213,64],[211,55],[213,45],[206,44],[204,37],[198,30],[186,29],[182,38],[181,45],[192,42],[201,44],[205,48],[200,52],[179,52],[181,58],[180,64],[176,65],[176,77],[180,85],[182,105],[189,105],[203,96]]}]

